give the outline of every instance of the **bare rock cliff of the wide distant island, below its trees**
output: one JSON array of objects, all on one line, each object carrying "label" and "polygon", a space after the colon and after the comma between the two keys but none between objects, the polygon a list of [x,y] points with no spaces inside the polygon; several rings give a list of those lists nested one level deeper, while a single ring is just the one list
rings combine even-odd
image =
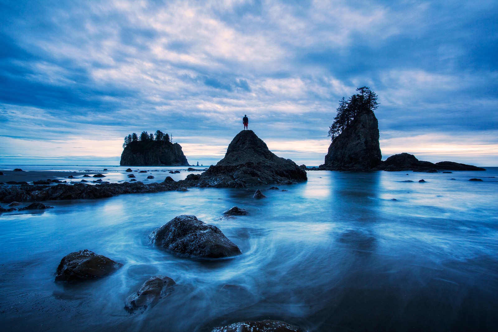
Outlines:
[{"label": "bare rock cliff of the wide distant island, below its trees", "polygon": [[121,154],[121,166],[190,166],[178,143],[131,142]]}]

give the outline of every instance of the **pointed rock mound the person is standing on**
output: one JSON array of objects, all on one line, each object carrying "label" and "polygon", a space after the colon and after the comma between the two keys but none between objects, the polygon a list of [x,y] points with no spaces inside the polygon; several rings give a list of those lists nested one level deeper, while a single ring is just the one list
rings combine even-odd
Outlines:
[{"label": "pointed rock mound the person is standing on", "polygon": [[306,172],[296,163],[276,156],[252,130],[243,130],[225,157],[200,175],[199,186],[240,188],[306,180]]}]

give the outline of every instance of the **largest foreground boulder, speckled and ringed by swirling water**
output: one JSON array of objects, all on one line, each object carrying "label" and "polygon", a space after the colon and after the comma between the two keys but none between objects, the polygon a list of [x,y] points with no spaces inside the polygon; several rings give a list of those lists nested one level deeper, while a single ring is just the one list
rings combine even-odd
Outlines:
[{"label": "largest foreground boulder, speckled and ringed by swirling water", "polygon": [[218,227],[187,215],[175,217],[155,229],[149,234],[149,243],[197,257],[221,258],[241,254],[239,247]]}]

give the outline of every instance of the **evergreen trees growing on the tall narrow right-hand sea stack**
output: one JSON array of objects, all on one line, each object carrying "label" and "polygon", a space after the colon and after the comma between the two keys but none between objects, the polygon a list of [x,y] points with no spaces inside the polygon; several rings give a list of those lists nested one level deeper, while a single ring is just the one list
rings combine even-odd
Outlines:
[{"label": "evergreen trees growing on the tall narrow right-hand sea stack", "polygon": [[377,103],[377,95],[370,90],[369,87],[361,87],[356,89],[359,93],[354,94],[348,100],[344,97],[339,101],[337,108],[337,115],[334,117],[334,122],[329,127],[329,137],[334,140],[341,132],[346,129],[355,116],[363,111],[376,110],[379,103]]}]

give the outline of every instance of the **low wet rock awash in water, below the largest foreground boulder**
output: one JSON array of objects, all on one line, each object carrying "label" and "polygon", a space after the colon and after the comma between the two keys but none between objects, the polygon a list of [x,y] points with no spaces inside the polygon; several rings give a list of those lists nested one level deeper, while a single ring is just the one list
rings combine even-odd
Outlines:
[{"label": "low wet rock awash in water, below the largest foreground boulder", "polygon": [[138,291],[131,294],[124,302],[124,309],[129,313],[136,310],[144,312],[152,308],[165,296],[173,291],[175,281],[166,276],[153,276],[143,283]]}]

